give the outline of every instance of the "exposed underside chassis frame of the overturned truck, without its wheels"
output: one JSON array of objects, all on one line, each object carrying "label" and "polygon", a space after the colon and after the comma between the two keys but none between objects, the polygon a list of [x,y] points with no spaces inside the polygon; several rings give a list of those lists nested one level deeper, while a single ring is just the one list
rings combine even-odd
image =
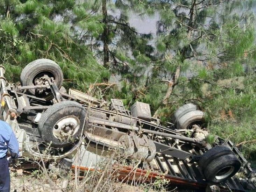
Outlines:
[{"label": "exposed underside chassis frame of the overturned truck, without its wheels", "polygon": [[[200,189],[209,184],[198,166],[198,159],[212,148],[204,140],[184,136],[185,131],[176,130],[175,125],[171,123],[170,127],[166,128],[159,125],[157,119],[151,118],[150,122],[135,118],[131,116],[130,111],[123,107],[121,100],[113,99],[111,109],[107,110],[102,107],[106,102],[76,90],[71,90],[72,94],[67,94],[60,90],[51,79],[46,79],[43,85],[15,86],[7,83],[4,73],[5,67],[0,66],[0,117],[14,130],[23,156],[44,156],[51,160],[70,157],[75,153],[76,148],[74,147],[63,154],[43,155],[35,151],[33,147],[35,144],[44,142],[36,127],[40,115],[56,103],[67,100],[77,101],[88,113],[84,136],[86,140],[90,140],[92,146],[99,147],[101,145],[104,150],[122,148],[120,138],[127,139],[127,135],[130,136],[128,140],[132,139],[138,146],[140,146],[141,137],[137,135],[142,136],[143,142],[146,141],[143,144],[151,149],[151,156],[147,153],[146,156],[142,155],[145,163],[134,173],[135,175],[145,174],[145,170],[152,170],[151,178],[159,176],[159,173],[164,173],[164,177],[175,184],[186,184]],[[37,97],[26,92],[30,89],[44,90],[46,88],[52,93],[51,99]],[[193,132],[193,130],[189,131]],[[246,191],[248,190],[244,185],[246,182],[252,189],[255,189],[256,186],[252,182],[255,172],[241,152],[231,141],[225,141],[222,138],[216,140],[215,146],[218,145],[226,145],[233,151],[241,162],[240,172],[246,176],[242,180],[233,176],[221,183],[220,186],[223,189]],[[139,158],[141,159],[142,156],[139,155]],[[73,168],[75,167],[76,165],[73,165]],[[86,170],[87,168],[81,166],[80,169]],[[121,175],[130,171],[131,168],[126,167]]]}]

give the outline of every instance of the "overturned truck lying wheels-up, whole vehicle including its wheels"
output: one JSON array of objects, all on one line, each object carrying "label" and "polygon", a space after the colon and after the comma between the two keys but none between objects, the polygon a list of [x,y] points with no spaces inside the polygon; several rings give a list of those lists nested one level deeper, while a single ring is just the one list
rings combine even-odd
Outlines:
[{"label": "overturned truck lying wheels-up, whole vehicle including its wheels", "polygon": [[[81,157],[81,170],[88,170],[88,154],[95,161],[98,151],[116,149],[143,162],[135,175],[151,170],[151,179],[163,176],[177,185],[255,189],[255,173],[231,141],[217,138],[212,146],[205,142],[204,112],[194,104],[180,107],[164,127],[151,117],[148,104],[135,102],[128,111],[121,100],[107,105],[77,90],[67,92],[61,68],[49,59],[29,63],[21,85],[8,83],[4,74],[0,66],[0,117],[16,134],[22,156],[65,159],[76,167],[74,156],[83,141],[87,155]],[[126,166],[121,175],[131,171]]]}]

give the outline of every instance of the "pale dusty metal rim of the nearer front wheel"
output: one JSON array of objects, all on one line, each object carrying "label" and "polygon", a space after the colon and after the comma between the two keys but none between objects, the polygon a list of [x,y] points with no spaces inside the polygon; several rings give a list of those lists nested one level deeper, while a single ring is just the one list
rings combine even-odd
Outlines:
[{"label": "pale dusty metal rim of the nearer front wheel", "polygon": [[77,133],[80,121],[76,116],[69,115],[60,119],[52,129],[54,136],[58,139],[67,138]]}]

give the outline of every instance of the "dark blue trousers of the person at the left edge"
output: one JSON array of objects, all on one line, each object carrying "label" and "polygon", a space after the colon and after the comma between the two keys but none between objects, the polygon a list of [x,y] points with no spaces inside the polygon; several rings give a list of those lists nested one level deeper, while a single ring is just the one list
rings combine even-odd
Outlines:
[{"label": "dark blue trousers of the person at the left edge", "polygon": [[0,159],[0,192],[10,191],[9,162],[6,157]]}]

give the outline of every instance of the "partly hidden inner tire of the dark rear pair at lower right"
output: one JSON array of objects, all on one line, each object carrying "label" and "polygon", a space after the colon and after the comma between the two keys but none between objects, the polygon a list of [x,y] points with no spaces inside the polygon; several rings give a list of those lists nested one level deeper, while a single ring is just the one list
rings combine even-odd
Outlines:
[{"label": "partly hidden inner tire of the dark rear pair at lower right", "polygon": [[198,164],[200,168],[204,170],[205,167],[213,161],[213,159],[216,159],[222,155],[228,155],[228,154],[234,154],[234,153],[226,145],[219,145],[206,151],[204,155],[202,155],[202,157],[199,159]]}]

